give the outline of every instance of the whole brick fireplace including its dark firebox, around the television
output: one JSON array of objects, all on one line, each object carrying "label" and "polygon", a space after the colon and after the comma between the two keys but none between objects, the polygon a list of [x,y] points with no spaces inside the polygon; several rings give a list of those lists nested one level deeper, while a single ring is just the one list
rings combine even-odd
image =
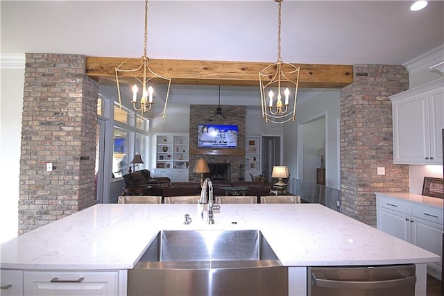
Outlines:
[{"label": "whole brick fireplace including its dark firebox, around the television", "polygon": [[[197,159],[203,157],[209,164],[216,164],[217,168],[227,168],[225,172],[218,171],[214,177],[218,180],[228,180],[231,182],[243,180],[245,166],[245,136],[246,136],[246,109],[245,106],[227,106],[222,105],[223,110],[233,110],[232,113],[226,114],[226,119],[222,116],[213,117],[212,121],[208,121],[209,112],[203,112],[206,106],[190,105],[189,106],[189,182],[200,182],[200,174],[194,173],[193,168]],[[202,123],[237,125],[237,148],[221,148],[221,149],[205,149],[197,147],[197,130],[198,125]],[[211,171],[211,167],[210,167]],[[210,177],[210,174],[204,175]]]}]

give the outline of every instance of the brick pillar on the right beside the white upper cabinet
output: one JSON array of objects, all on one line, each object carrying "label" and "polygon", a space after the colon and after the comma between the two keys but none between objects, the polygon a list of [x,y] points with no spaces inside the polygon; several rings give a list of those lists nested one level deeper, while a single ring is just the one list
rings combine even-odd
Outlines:
[{"label": "brick pillar on the right beside the white upper cabinet", "polygon": [[[375,192],[409,191],[409,166],[393,164],[391,101],[409,88],[402,66],[357,64],[341,90],[341,199],[343,214],[376,225]],[[377,175],[384,166],[386,175]]]}]

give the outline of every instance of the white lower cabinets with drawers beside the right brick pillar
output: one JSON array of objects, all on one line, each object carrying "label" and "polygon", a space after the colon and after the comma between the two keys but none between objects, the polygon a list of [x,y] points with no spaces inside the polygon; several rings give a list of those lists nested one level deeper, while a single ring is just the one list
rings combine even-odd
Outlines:
[{"label": "white lower cabinets with drawers beside the right brick pillar", "polygon": [[[377,229],[442,257],[443,209],[376,195]],[[427,263],[441,279],[441,262]]]}]

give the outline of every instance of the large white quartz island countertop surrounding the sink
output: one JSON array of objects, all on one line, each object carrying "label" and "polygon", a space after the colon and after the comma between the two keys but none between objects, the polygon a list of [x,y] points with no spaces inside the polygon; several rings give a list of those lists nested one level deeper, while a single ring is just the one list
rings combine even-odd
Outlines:
[{"label": "large white quartz island countertop surrounding the sink", "polygon": [[260,229],[287,266],[440,260],[321,204],[221,204],[214,220],[202,222],[196,204],[96,204],[3,243],[1,268],[131,269],[161,229]]}]

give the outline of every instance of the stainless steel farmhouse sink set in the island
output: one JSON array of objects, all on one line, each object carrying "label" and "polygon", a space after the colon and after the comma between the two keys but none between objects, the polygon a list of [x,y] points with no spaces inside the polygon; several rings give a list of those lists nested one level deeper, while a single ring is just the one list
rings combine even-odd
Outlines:
[{"label": "stainless steel farmhouse sink set in the island", "polygon": [[128,295],[288,295],[288,269],[258,230],[161,231]]}]

